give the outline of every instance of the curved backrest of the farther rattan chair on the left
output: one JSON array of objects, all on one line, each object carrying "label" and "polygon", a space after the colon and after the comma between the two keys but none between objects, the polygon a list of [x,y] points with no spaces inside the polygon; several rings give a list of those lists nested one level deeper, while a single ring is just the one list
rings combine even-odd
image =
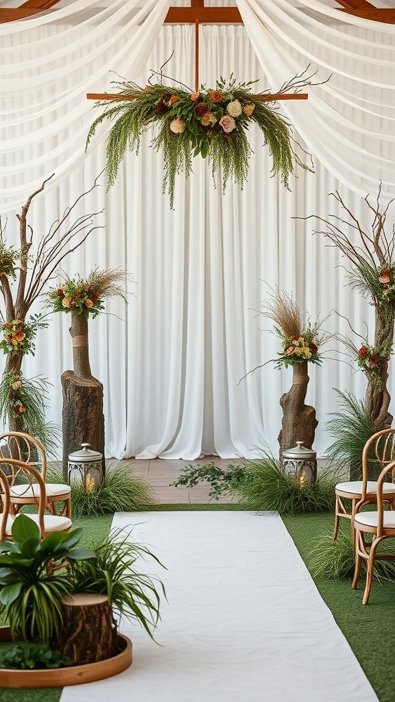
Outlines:
[{"label": "curved backrest of the farther rattan chair on the left", "polygon": [[[0,434],[0,458],[15,458],[17,461],[29,463],[37,468],[44,479],[46,480],[46,453],[44,446],[38,439],[25,434],[24,432],[4,432]],[[10,485],[15,483],[18,470],[12,463],[4,465],[3,468],[8,475]]]}]

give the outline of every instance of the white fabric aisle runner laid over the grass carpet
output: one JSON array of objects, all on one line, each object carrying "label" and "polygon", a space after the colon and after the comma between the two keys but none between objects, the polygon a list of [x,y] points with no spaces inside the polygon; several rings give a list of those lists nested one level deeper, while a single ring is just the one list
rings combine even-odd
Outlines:
[{"label": "white fabric aisle runner laid over the grass carpet", "polygon": [[[158,646],[136,625],[129,670],[60,702],[373,702],[370,683],[273,512],[115,515],[167,571]],[[362,606],[362,605],[361,605]]]}]

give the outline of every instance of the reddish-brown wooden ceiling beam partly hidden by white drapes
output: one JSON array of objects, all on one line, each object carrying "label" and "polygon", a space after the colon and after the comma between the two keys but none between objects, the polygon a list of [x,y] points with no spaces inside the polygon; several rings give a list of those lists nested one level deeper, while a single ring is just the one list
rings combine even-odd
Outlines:
[{"label": "reddish-brown wooden ceiling beam partly hidden by white drapes", "polygon": [[[394,8],[377,8],[368,0],[334,0],[342,7],[340,12],[361,17],[365,20],[395,24]],[[59,0],[27,0],[16,8],[0,8],[0,23],[13,22],[37,15],[58,4]],[[170,7],[164,20],[167,24],[241,24],[242,18],[237,7],[206,7],[205,0],[190,0],[189,7]]]}]

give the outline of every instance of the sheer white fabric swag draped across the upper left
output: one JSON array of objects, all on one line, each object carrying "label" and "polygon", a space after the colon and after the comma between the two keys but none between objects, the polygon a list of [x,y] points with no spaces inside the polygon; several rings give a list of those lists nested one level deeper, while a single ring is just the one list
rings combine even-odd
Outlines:
[{"label": "sheer white fabric swag draped across the upper left", "polygon": [[52,173],[53,187],[82,163],[93,121],[86,93],[103,91],[109,75],[139,74],[168,8],[169,0],[142,7],[115,0],[101,9],[75,2],[41,21],[0,25],[0,211],[20,206]]}]

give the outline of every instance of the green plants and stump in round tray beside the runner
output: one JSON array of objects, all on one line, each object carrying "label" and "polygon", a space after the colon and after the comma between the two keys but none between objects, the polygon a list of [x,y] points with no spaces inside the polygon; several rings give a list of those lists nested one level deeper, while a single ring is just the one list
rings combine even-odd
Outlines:
[{"label": "green plants and stump in round tray beside the runner", "polygon": [[0,640],[23,642],[8,652],[0,687],[79,684],[125,670],[131,642],[118,633],[117,615],[134,618],[153,637],[165,592],[135,562],[155,555],[119,530],[92,549],[75,548],[82,533],[41,539],[37,524],[22,514],[13,523],[13,541],[0,542],[0,616],[9,624]]}]

